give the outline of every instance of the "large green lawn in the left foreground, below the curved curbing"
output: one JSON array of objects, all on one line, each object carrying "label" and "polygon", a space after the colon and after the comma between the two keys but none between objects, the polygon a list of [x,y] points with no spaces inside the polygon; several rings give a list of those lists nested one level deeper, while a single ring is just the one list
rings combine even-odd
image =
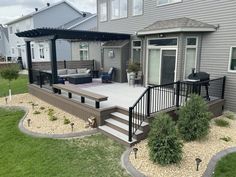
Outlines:
[{"label": "large green lawn in the left foreground, below the curved curbing", "polygon": [[121,168],[123,146],[101,134],[74,140],[33,138],[17,126],[24,112],[0,108],[0,176],[128,176]]}]

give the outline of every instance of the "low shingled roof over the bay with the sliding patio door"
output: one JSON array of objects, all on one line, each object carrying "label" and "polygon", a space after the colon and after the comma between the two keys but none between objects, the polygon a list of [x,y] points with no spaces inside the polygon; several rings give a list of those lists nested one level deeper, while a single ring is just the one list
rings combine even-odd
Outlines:
[{"label": "low shingled roof over the bay with the sliding patio door", "polygon": [[146,28],[138,31],[138,35],[175,33],[175,32],[210,32],[216,31],[214,25],[203,23],[190,18],[176,18],[170,20],[156,21]]}]

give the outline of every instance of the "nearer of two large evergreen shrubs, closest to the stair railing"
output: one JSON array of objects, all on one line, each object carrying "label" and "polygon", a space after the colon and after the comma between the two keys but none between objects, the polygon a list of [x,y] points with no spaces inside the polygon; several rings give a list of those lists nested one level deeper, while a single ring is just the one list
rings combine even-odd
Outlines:
[{"label": "nearer of two large evergreen shrubs, closest to the stair railing", "polygon": [[178,163],[182,159],[183,144],[169,115],[160,114],[153,120],[148,146],[150,159],[155,163],[167,165]]}]

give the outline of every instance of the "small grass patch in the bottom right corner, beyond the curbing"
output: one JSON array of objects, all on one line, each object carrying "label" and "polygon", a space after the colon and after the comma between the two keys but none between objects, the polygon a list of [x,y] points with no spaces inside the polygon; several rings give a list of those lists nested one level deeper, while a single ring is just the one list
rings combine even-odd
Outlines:
[{"label": "small grass patch in the bottom right corner, beyond the curbing", "polygon": [[236,176],[236,153],[223,157],[216,165],[214,177],[235,177]]}]

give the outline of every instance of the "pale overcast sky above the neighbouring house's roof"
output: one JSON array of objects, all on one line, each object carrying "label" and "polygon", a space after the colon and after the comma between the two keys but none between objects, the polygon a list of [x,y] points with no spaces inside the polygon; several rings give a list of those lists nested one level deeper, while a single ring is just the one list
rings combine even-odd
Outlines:
[{"label": "pale overcast sky above the neighbouring house's roof", "polygon": [[[61,0],[0,0],[0,24],[14,20],[22,15]],[[81,11],[96,13],[96,0],[68,0]]]}]

